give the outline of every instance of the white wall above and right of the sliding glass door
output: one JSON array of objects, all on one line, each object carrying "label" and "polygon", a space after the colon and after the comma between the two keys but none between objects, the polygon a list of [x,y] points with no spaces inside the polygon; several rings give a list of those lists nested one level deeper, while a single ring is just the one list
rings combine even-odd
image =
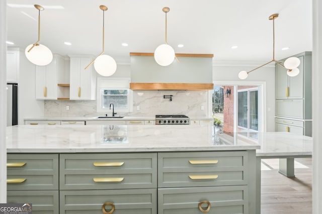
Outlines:
[{"label": "white wall above and right of the sliding glass door", "polygon": [[[264,62],[265,63],[265,62]],[[263,64],[264,64],[263,63]],[[235,65],[234,65],[235,64]],[[260,63],[261,64],[261,63]],[[261,65],[263,65],[261,64]],[[245,80],[238,78],[238,73],[242,70],[250,71],[259,66],[259,62],[218,62],[213,66],[213,81],[231,81],[238,82],[266,82],[266,130],[275,131],[275,65],[260,68],[249,73]]]}]

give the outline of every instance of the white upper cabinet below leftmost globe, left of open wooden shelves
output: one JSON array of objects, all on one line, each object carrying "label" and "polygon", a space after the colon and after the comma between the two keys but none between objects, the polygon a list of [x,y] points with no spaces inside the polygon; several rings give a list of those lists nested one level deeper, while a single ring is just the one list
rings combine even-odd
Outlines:
[{"label": "white upper cabinet below leftmost globe, left of open wooden shelves", "polygon": [[36,99],[57,100],[57,76],[64,70],[64,59],[53,54],[53,60],[46,66],[36,66]]}]

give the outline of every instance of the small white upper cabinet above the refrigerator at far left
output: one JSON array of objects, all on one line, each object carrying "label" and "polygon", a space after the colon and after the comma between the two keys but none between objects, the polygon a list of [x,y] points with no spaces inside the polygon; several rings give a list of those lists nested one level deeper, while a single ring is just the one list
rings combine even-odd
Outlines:
[{"label": "small white upper cabinet above the refrigerator at far left", "polygon": [[7,51],[7,83],[18,83],[19,78],[19,49]]}]

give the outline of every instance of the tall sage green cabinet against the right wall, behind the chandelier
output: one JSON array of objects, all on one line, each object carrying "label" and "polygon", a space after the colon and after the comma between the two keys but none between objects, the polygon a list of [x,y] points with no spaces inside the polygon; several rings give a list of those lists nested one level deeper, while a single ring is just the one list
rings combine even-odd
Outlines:
[{"label": "tall sage green cabinet against the right wall, behind the chandelier", "polygon": [[[286,120],[300,119],[303,123],[302,134],[311,136],[312,120],[312,56],[311,52],[294,55],[300,60],[299,74],[289,77],[287,70],[276,65],[276,118]],[[285,60],[285,59],[284,59]],[[283,60],[283,61],[284,61]],[[276,131],[300,133],[298,126],[276,123]]]}]

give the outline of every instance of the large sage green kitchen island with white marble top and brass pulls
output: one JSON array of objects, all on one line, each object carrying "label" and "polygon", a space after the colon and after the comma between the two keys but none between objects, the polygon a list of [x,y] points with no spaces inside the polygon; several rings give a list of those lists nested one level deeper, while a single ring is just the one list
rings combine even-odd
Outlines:
[{"label": "large sage green kitchen island with white marble top and brass pulls", "polygon": [[255,213],[259,148],[210,125],[7,127],[8,202],[34,213]]}]

